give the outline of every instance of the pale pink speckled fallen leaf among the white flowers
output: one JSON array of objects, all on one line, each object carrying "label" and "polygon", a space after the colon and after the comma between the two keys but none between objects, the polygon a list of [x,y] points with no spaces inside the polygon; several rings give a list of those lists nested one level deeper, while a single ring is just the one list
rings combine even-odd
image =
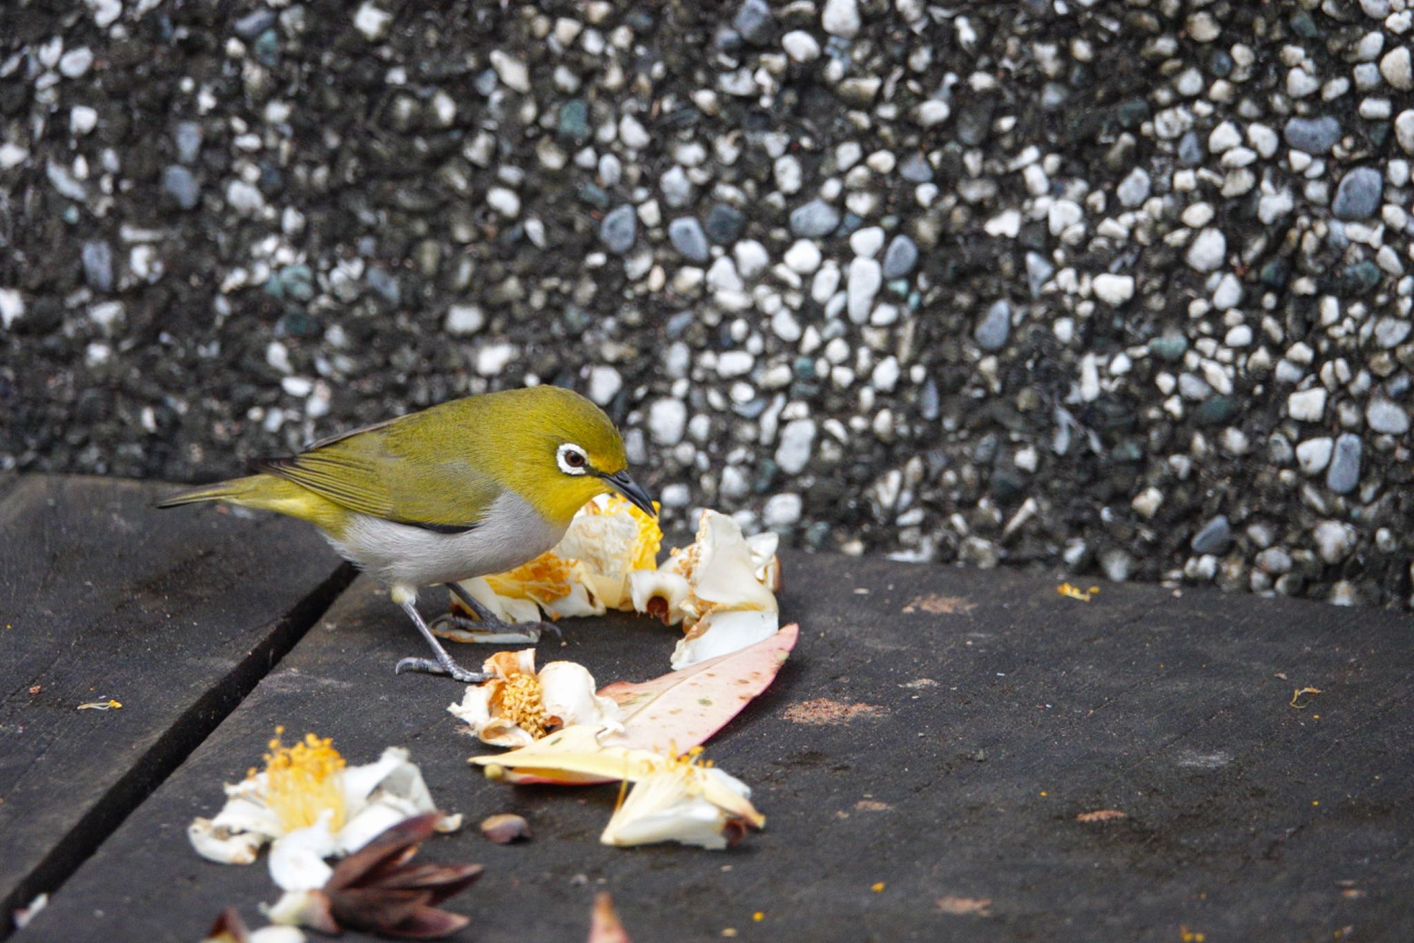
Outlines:
[{"label": "pale pink speckled fallen leaf among the white flowers", "polygon": [[624,708],[617,746],[686,752],[707,742],[775,680],[800,635],[790,623],[740,652],[684,667],[641,684],[617,681],[600,691]]}]

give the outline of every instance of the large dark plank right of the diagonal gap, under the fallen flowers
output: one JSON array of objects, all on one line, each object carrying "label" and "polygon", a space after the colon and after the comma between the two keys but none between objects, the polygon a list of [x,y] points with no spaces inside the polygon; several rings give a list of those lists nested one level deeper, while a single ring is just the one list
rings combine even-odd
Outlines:
[{"label": "large dark plank right of the diagonal gap, under the fallen flowers", "polygon": [[[600,891],[635,940],[1414,935],[1407,619],[1138,585],[1080,602],[1045,577],[797,553],[785,584],[800,642],[707,749],[768,816],[731,851],[608,848],[615,786],[475,775],[465,758],[493,751],[445,713],[461,686],[393,676],[420,642],[359,582],[30,933],[185,943],[232,903],[257,925],[276,898],[264,860],[205,862],[184,827],[284,724],[352,763],[409,746],[433,796],[465,813],[421,853],[486,865],[450,905],[474,919],[458,939],[583,939]],[[665,672],[674,639],[631,616],[564,635],[540,660],[580,660],[601,684]],[[491,650],[457,649],[467,663]],[[1307,686],[1322,693],[1292,707]],[[1099,810],[1126,817],[1077,820]],[[484,840],[477,821],[501,812],[534,838]]]}]

